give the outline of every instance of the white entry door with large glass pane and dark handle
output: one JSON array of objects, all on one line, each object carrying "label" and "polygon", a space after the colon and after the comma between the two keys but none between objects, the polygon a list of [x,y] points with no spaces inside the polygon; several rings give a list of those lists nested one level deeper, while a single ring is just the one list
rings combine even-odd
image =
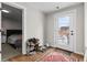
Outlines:
[{"label": "white entry door with large glass pane and dark handle", "polygon": [[63,50],[75,50],[75,33],[76,33],[76,10],[65,11],[55,14],[54,22],[54,46]]}]

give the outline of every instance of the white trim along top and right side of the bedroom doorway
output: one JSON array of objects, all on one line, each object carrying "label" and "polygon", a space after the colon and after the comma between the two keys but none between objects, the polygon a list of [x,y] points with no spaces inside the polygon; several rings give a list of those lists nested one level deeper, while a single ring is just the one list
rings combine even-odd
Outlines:
[{"label": "white trim along top and right side of the bedroom doorway", "polygon": [[20,6],[18,3],[14,3],[14,2],[3,2],[8,6],[11,6],[11,7],[15,7],[18,9],[22,9],[22,54],[26,54],[26,50],[25,50],[25,40],[24,37],[26,36],[25,35],[25,17],[26,17],[26,8],[24,8],[23,6]]}]

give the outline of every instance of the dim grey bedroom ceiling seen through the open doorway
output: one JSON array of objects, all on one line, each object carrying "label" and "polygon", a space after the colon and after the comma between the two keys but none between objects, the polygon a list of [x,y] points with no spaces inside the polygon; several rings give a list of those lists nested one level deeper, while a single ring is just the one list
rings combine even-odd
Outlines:
[{"label": "dim grey bedroom ceiling seen through the open doorway", "polygon": [[2,19],[22,21],[22,10],[21,9],[2,3],[2,10],[9,11],[9,13],[2,12]]}]

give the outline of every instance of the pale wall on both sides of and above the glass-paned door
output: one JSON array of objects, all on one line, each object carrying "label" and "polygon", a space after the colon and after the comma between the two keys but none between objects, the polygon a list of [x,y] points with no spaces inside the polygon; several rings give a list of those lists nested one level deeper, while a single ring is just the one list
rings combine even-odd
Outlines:
[{"label": "pale wall on both sides of and above the glass-paned door", "polygon": [[50,45],[54,44],[54,14],[63,11],[76,9],[76,53],[84,53],[84,4],[69,7],[53,13],[47,14],[46,23],[46,41]]}]

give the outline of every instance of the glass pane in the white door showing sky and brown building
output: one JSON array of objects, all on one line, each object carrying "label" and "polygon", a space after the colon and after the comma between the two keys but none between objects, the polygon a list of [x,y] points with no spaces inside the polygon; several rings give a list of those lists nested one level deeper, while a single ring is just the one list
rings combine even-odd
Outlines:
[{"label": "glass pane in the white door showing sky and brown building", "polygon": [[69,44],[69,17],[61,17],[56,20],[55,42],[59,44]]}]

